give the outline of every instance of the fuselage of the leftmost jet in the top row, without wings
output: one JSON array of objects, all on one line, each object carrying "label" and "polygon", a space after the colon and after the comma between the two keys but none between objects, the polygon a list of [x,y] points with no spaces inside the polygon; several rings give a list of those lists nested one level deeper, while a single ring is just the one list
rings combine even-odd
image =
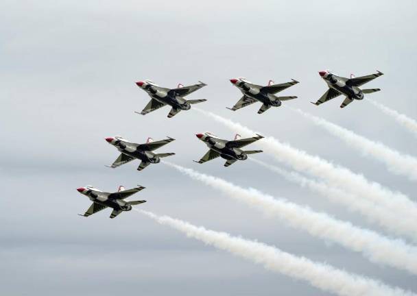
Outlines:
[{"label": "fuselage of the leftmost jet in the top row, without wings", "polygon": [[152,99],[156,99],[156,101],[160,101],[160,103],[165,103],[174,109],[191,109],[190,103],[188,103],[183,97],[177,95],[173,90],[167,90],[166,88],[161,88],[147,82],[143,82],[143,84],[139,85],[139,87],[145,90],[145,92],[152,97]]}]

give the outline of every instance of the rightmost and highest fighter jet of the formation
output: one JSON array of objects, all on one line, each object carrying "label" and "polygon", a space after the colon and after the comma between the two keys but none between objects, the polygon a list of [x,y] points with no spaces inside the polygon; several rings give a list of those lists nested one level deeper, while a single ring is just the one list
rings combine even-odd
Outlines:
[{"label": "rightmost and highest fighter jet of the formation", "polygon": [[311,102],[314,105],[319,106],[321,103],[330,101],[339,95],[344,95],[344,99],[340,108],[345,108],[348,104],[352,103],[354,99],[361,100],[364,99],[364,94],[375,93],[381,88],[368,88],[362,90],[359,86],[370,82],[371,80],[383,75],[383,73],[377,71],[375,74],[370,74],[361,77],[355,77],[355,75],[350,74],[350,79],[345,77],[340,77],[331,73],[331,71],[320,71],[320,76],[324,79],[326,84],[329,86],[329,90],[318,99],[318,101]]}]

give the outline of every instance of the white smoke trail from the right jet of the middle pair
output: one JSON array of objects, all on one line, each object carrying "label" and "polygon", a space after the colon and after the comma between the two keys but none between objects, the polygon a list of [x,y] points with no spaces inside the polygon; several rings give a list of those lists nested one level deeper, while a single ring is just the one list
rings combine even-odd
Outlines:
[{"label": "white smoke trail from the right jet of the middle pair", "polygon": [[407,225],[398,224],[398,215],[391,210],[386,210],[385,208],[376,206],[367,199],[358,199],[355,195],[346,193],[345,191],[330,186],[324,182],[309,179],[294,171],[285,171],[284,169],[267,164],[255,158],[250,158],[250,160],[269,169],[270,171],[278,173],[290,182],[294,182],[302,187],[309,188],[309,190],[315,193],[319,193],[335,204],[342,204],[343,206],[346,206],[348,210],[363,214],[365,217],[368,217],[372,223],[377,223],[377,225],[394,234],[407,236],[412,240],[416,240],[415,234],[417,233],[417,223]]}]

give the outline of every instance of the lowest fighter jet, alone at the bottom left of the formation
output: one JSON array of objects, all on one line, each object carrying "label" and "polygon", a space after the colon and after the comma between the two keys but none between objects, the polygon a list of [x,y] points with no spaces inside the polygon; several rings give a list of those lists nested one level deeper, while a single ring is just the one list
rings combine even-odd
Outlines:
[{"label": "lowest fighter jet, alone at the bottom left of the formation", "polygon": [[136,204],[143,204],[146,201],[124,201],[126,197],[134,195],[136,192],[144,189],[145,187],[139,186],[136,188],[125,190],[123,186],[119,186],[119,190],[116,193],[105,193],[102,190],[94,188],[93,186],[86,186],[77,188],[79,193],[86,195],[93,204],[88,208],[84,214],[79,214],[83,217],[88,217],[96,212],[104,210],[105,208],[112,208],[113,211],[110,214],[110,218],[115,218],[121,212],[132,210],[132,206]]}]

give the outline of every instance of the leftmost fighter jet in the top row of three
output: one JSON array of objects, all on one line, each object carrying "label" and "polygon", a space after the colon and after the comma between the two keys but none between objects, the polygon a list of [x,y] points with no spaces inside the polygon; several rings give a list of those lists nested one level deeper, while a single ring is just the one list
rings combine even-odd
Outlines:
[{"label": "leftmost fighter jet in the top row of three", "polygon": [[160,87],[150,80],[136,82],[136,85],[145,90],[145,92],[152,98],[142,112],[135,112],[137,114],[145,115],[165,105],[169,105],[172,109],[169,111],[168,118],[171,118],[172,116],[178,114],[181,110],[189,110],[192,104],[206,101],[206,99],[184,99],[185,96],[194,93],[195,90],[207,85],[203,82],[192,86],[183,86],[182,84],[178,84],[177,88],[172,89]]}]

